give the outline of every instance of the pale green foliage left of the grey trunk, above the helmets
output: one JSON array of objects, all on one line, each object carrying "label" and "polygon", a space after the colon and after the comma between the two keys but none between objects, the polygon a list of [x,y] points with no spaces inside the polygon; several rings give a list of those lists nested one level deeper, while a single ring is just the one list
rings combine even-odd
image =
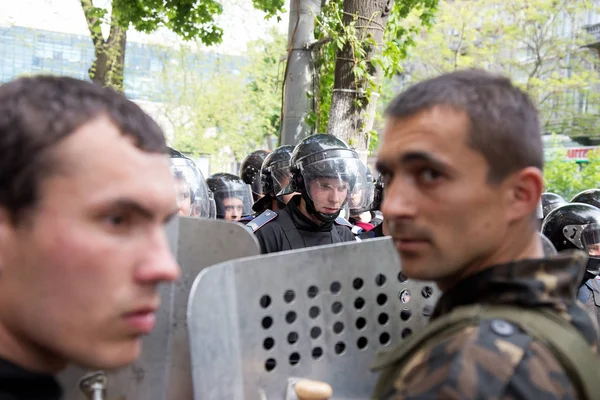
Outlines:
[{"label": "pale green foliage left of the grey trunk, above the helmets", "polygon": [[[286,38],[273,32],[249,45],[245,66],[228,72],[203,53],[173,50],[176,63],[161,76],[162,114],[169,121],[170,143],[180,151],[211,154],[211,170],[228,170],[250,151],[266,148],[279,131],[281,79]],[[225,56],[224,56],[225,57]]]}]

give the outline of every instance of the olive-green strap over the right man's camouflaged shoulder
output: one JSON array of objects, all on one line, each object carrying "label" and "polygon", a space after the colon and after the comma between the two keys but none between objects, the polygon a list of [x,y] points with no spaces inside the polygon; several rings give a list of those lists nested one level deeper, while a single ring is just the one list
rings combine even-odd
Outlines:
[{"label": "olive-green strap over the right man's camouflaged shoulder", "polygon": [[[483,305],[459,307],[432,321],[420,334],[403,341],[389,353],[380,354],[373,369],[382,370],[392,365],[404,365],[419,349],[439,344],[464,328],[477,325],[483,319],[500,319],[514,323],[532,339],[545,344],[562,365],[580,399],[592,400],[600,393],[598,355],[567,320],[553,311],[540,308]],[[386,382],[385,378],[382,375],[374,398],[381,397],[386,389],[389,382]]]}]

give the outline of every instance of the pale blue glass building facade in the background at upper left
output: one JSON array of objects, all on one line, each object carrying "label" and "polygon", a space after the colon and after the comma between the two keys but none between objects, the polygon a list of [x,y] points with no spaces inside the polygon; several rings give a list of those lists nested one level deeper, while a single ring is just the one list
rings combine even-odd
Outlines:
[{"label": "pale blue glass building facade in the background at upper left", "polygon": [[[125,52],[125,94],[133,100],[162,102],[165,80],[160,76],[169,68],[175,51],[163,46],[128,42]],[[214,69],[234,72],[242,68],[243,58],[212,52],[189,53],[183,60],[198,73]],[[25,27],[0,27],[0,82],[22,75],[54,74],[89,79],[94,46],[89,36],[51,32]],[[174,82],[170,82],[173,91]]]}]

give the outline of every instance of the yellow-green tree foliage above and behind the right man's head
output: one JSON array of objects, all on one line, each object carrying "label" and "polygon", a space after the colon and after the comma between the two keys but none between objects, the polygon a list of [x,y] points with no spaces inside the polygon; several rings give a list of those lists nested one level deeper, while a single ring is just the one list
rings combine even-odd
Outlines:
[{"label": "yellow-green tree foliage above and behind the right man's head", "polygon": [[589,0],[445,0],[434,26],[414,37],[414,83],[461,68],[508,75],[536,101],[546,133],[600,135],[600,79],[584,29]]}]

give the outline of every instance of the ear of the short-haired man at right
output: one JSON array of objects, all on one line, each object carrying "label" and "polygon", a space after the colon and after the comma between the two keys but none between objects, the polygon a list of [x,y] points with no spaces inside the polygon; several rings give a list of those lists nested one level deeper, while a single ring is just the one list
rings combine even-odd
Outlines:
[{"label": "ear of the short-haired man at right", "polygon": [[527,167],[510,175],[505,182],[507,221],[533,221],[543,187],[544,179],[539,168]]}]

